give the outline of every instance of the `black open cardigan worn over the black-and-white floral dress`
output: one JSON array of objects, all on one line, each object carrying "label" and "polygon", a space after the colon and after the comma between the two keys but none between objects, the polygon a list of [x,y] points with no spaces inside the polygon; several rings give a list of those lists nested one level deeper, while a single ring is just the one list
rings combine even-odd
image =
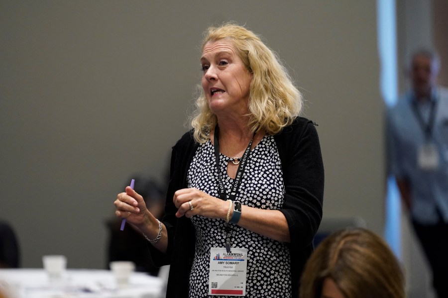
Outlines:
[{"label": "black open cardigan worn over the black-and-white floral dress", "polygon": [[[299,280],[313,251],[313,238],[322,219],[324,165],[319,137],[312,121],[297,117],[274,135],[282,163],[285,199],[280,211],[289,226],[292,297],[299,297]],[[167,298],[187,298],[195,251],[195,227],[185,216],[176,218],[174,193],[187,188],[187,172],[199,144],[193,132],[185,133],[172,148],[170,183],[162,222],[168,233],[165,254],[149,245],[156,266],[170,265]]]}]

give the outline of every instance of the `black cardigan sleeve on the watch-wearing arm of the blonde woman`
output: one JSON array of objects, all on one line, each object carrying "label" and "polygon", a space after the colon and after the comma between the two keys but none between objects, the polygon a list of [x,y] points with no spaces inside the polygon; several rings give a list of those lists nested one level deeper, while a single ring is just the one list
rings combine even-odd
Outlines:
[{"label": "black cardigan sleeve on the watch-wearing arm of the blonde woman", "polygon": [[288,222],[291,250],[303,250],[319,228],[324,197],[324,165],[313,122],[296,119],[277,138],[277,148],[285,184],[280,211]]}]

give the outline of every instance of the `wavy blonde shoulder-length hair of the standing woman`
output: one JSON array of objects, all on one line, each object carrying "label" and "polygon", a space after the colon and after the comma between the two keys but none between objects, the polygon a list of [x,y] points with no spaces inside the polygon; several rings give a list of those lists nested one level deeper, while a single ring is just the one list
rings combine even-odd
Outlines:
[{"label": "wavy blonde shoulder-length hair of the standing woman", "polygon": [[[262,129],[267,134],[277,134],[300,114],[303,105],[301,93],[294,86],[278,55],[258,35],[243,26],[224,23],[219,27],[209,27],[204,32],[201,49],[208,42],[221,39],[232,43],[247,71],[252,74],[248,104],[249,129],[251,132]],[[191,125],[195,140],[205,143],[218,119],[210,110],[201,85],[197,88],[199,97],[196,99]]]}]

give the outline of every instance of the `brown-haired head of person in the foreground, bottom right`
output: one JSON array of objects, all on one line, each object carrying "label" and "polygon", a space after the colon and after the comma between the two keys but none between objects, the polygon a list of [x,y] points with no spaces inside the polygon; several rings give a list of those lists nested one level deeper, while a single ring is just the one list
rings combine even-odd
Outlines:
[{"label": "brown-haired head of person in the foreground, bottom right", "polygon": [[302,275],[300,298],[404,298],[395,255],[375,233],[346,229],[319,244]]}]

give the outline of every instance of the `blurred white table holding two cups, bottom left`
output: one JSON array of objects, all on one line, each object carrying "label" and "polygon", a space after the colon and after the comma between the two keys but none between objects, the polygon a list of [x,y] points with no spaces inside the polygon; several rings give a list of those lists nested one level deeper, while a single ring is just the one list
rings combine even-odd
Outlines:
[{"label": "blurred white table holding two cups, bottom left", "polygon": [[12,298],[160,298],[163,281],[134,272],[129,285],[117,286],[109,270],[68,269],[50,280],[43,269],[0,269],[0,289]]}]

